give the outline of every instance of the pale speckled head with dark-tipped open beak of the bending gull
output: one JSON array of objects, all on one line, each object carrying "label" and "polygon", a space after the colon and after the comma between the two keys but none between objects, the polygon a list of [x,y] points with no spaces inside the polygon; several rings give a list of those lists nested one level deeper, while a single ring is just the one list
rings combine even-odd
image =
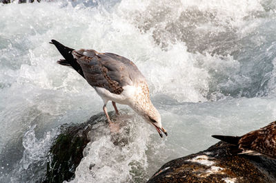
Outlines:
[{"label": "pale speckled head with dark-tipped open beak of the bending gull", "polygon": [[166,130],[162,127],[161,124],[161,116],[159,114],[159,112],[157,111],[157,109],[151,111],[147,116],[146,116],[146,120],[147,122],[150,123],[150,125],[152,125],[153,127],[155,127],[155,129],[157,130],[157,132],[159,133],[159,136],[161,138],[163,138],[163,133],[165,133],[166,136],[168,136],[168,133],[166,132]]}]

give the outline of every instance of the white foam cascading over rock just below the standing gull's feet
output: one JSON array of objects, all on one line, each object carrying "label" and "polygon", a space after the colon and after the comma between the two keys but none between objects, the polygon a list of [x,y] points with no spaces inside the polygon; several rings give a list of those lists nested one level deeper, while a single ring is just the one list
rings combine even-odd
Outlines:
[{"label": "white foam cascading over rock just below the standing gull's feet", "polygon": [[85,157],[71,182],[146,180],[143,173],[148,167],[145,150],[151,133],[146,122],[141,123],[139,118],[130,117],[130,114],[123,112],[117,118],[116,122],[123,125],[117,135],[110,136],[103,122],[90,131],[92,142],[83,151]]}]

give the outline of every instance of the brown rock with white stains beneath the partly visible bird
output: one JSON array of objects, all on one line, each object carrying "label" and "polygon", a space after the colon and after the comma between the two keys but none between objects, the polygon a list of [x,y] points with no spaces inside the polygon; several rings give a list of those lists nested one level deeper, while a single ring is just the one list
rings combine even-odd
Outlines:
[{"label": "brown rock with white stains beneath the partly visible bird", "polygon": [[167,162],[148,182],[276,182],[276,160],[232,155],[233,145],[218,142],[205,151]]}]

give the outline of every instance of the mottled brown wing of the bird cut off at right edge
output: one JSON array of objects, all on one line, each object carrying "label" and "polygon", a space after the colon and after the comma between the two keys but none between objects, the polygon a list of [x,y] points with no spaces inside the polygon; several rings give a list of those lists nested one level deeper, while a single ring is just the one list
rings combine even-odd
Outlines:
[{"label": "mottled brown wing of the bird cut off at right edge", "polygon": [[239,148],[257,151],[270,158],[276,158],[276,122],[246,133],[239,140]]}]

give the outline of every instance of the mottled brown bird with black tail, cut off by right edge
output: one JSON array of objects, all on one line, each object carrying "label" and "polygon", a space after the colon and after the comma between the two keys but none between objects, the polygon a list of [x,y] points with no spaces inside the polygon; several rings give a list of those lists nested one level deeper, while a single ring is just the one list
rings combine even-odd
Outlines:
[{"label": "mottled brown bird with black tail, cut off by right edge", "polygon": [[242,154],[266,155],[276,159],[276,121],[244,136],[212,136],[224,142],[235,144]]}]

